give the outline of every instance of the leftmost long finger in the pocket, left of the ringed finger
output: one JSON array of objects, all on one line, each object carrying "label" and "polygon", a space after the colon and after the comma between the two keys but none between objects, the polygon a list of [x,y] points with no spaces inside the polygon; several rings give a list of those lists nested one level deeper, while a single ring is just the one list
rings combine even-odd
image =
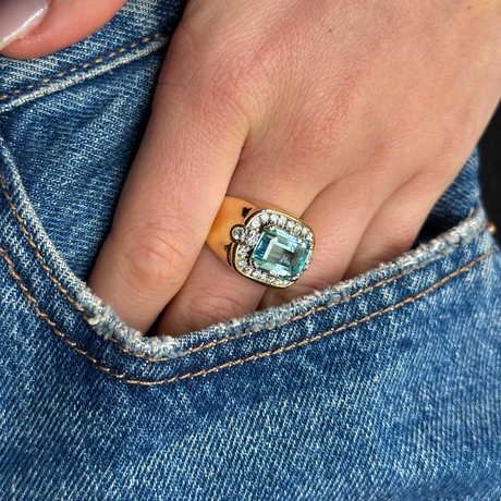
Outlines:
[{"label": "leftmost long finger in the pocket, left of the ringed finger", "polygon": [[[183,40],[174,36],[172,44],[181,53]],[[146,135],[89,278],[96,294],[143,332],[190,274],[247,134],[240,109],[199,91],[203,82],[197,87],[193,73],[170,62],[168,54]],[[203,72],[196,77],[203,81]]]}]

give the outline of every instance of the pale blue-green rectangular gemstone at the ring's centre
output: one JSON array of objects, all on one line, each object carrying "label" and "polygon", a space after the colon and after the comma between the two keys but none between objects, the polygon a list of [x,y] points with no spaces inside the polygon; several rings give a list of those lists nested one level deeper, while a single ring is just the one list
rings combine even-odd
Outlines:
[{"label": "pale blue-green rectangular gemstone at the ring's centre", "polygon": [[292,279],[301,274],[310,254],[309,242],[277,228],[265,231],[253,252],[253,260],[261,271],[274,271]]}]

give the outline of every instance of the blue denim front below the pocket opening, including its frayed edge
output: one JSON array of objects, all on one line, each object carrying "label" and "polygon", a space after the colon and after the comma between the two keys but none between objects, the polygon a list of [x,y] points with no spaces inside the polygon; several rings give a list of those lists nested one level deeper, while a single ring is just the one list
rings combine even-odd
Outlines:
[{"label": "blue denim front below the pocket opening, including its frayed edge", "polygon": [[4,499],[499,496],[501,267],[480,208],[352,281],[145,339],[61,259],[3,154]]}]

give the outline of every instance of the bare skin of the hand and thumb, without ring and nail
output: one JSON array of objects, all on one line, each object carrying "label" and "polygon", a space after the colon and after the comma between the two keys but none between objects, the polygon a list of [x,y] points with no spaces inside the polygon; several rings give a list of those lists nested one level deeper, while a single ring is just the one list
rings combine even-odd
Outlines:
[{"label": "bare skin of the hand and thumb, without ring and nail", "polygon": [[[72,44],[122,3],[54,0],[3,53]],[[500,0],[191,0],[88,283],[144,332],[168,305],[158,333],[181,335],[393,259],[500,96]],[[315,230],[292,288],[250,282],[204,245],[225,194]]]}]

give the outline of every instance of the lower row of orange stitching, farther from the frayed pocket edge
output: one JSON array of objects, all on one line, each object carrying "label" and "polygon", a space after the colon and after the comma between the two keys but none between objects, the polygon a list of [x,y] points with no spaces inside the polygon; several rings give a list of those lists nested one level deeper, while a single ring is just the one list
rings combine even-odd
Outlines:
[{"label": "lower row of orange stitching, farther from the frayed pocket edge", "polygon": [[249,355],[247,357],[239,358],[236,361],[230,361],[230,362],[227,362],[224,364],[211,367],[210,369],[203,369],[203,370],[199,370],[197,372],[187,372],[187,374],[184,374],[184,375],[181,375],[181,376],[174,376],[172,378],[160,379],[160,380],[157,380],[157,381],[146,381],[146,380],[138,380],[138,379],[126,379],[125,378],[125,372],[122,372],[122,374],[114,372],[114,371],[111,370],[111,368],[99,364],[97,358],[91,356],[85,350],[80,349],[77,346],[76,342],[70,340],[66,337],[66,334],[64,334],[64,332],[59,330],[56,327],[57,323],[53,320],[51,320],[49,318],[49,316],[45,311],[40,310],[40,308],[38,307],[38,304],[37,304],[37,300],[35,297],[33,297],[33,295],[29,294],[28,289],[23,283],[21,277],[14,270],[12,259],[8,256],[7,252],[2,247],[0,247],[0,254],[2,255],[3,259],[8,264],[9,271],[12,274],[12,277],[14,278],[14,280],[17,282],[17,284],[20,285],[20,288],[23,291],[27,302],[32,303],[34,305],[35,313],[38,316],[40,316],[51,327],[52,331],[58,337],[62,338],[64,340],[64,342],[68,343],[70,346],[72,346],[73,350],[76,353],[78,353],[80,355],[83,355],[85,358],[90,361],[99,370],[102,370],[103,372],[107,372],[107,374],[109,374],[110,376],[112,376],[114,378],[121,379],[122,381],[124,381],[124,382],[126,382],[129,384],[139,384],[139,386],[146,386],[146,387],[171,383],[171,382],[182,380],[182,379],[187,379],[187,378],[194,379],[194,378],[196,378],[198,376],[206,376],[208,374],[216,372],[216,371],[218,371],[220,369],[228,368],[228,367],[233,367],[233,366],[236,366],[236,365],[240,365],[240,364],[244,364],[246,362],[255,361],[255,359],[258,359],[258,358],[264,358],[266,356],[274,356],[274,355],[278,355],[280,353],[285,353],[285,352],[289,352],[289,351],[294,350],[296,347],[300,347],[300,346],[303,346],[303,345],[306,345],[306,344],[310,344],[310,343],[313,343],[315,341],[318,341],[319,339],[322,339],[322,338],[325,338],[327,335],[331,335],[331,334],[341,332],[343,330],[350,329],[351,327],[355,327],[355,326],[357,326],[359,323],[364,323],[367,320],[370,320],[371,318],[384,315],[384,314],[387,314],[389,311],[392,311],[392,310],[395,310],[398,308],[401,308],[402,306],[404,306],[404,305],[406,305],[408,303],[413,303],[414,301],[417,301],[417,300],[421,298],[423,296],[425,296],[425,295],[429,294],[430,292],[435,291],[436,289],[438,289],[440,285],[442,285],[443,283],[448,282],[452,278],[457,277],[459,274],[467,271],[469,268],[474,267],[475,265],[477,265],[481,260],[486,259],[491,254],[493,254],[494,250],[496,250],[496,246],[492,246],[487,253],[476,257],[475,259],[469,261],[467,265],[464,265],[463,267],[456,269],[455,271],[452,271],[451,273],[449,273],[444,278],[440,279],[439,281],[435,282],[432,285],[430,285],[429,288],[427,288],[424,291],[419,292],[418,294],[416,294],[414,296],[411,296],[411,297],[407,297],[405,300],[402,300],[402,301],[400,301],[400,302],[398,302],[398,303],[395,303],[393,305],[387,306],[386,308],[372,311],[371,314],[366,315],[365,317],[363,317],[363,318],[361,318],[358,320],[353,320],[351,322],[344,323],[344,325],[342,325],[340,327],[337,327],[334,329],[329,329],[329,330],[327,330],[325,332],[320,332],[320,333],[318,333],[318,334],[316,334],[316,335],[314,335],[311,338],[306,338],[306,339],[304,339],[302,341],[296,341],[296,342],[294,342],[292,344],[279,347],[277,350],[270,350],[268,352],[257,353],[255,355]]}]

